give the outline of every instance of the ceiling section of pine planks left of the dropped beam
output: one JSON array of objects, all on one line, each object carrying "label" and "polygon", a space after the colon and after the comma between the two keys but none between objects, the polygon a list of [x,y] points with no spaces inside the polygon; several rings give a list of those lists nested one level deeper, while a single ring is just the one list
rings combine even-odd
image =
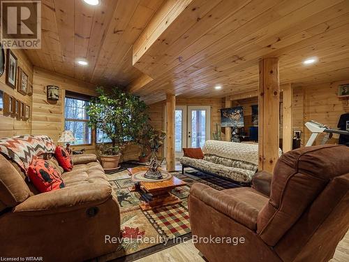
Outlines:
[{"label": "ceiling section of pine planks left of the dropped beam", "polygon": [[[26,50],[34,66],[92,82],[126,86],[142,73],[132,45],[164,0],[43,0],[41,50]],[[83,67],[76,63],[89,62]]]}]

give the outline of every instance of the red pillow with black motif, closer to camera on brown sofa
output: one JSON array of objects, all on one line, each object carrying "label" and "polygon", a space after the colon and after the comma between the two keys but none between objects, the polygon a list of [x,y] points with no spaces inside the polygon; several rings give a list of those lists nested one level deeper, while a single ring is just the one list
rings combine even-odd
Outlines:
[{"label": "red pillow with black motif, closer to camera on brown sofa", "polygon": [[36,189],[41,193],[66,187],[57,170],[54,170],[49,161],[44,159],[36,159],[31,162],[28,175]]}]

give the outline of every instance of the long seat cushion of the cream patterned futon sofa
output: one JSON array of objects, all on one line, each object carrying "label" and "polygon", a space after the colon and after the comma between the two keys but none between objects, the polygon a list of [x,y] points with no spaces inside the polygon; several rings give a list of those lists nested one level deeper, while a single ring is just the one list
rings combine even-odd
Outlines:
[{"label": "long seat cushion of the cream patterned futon sofa", "polygon": [[181,157],[179,161],[181,162],[181,164],[184,164],[186,166],[191,166],[207,173],[220,175],[221,177],[228,177],[231,180],[235,180],[237,182],[249,183],[251,182],[253,175],[255,175],[255,172],[251,170],[223,166],[212,163],[210,161],[206,161],[205,159]]}]

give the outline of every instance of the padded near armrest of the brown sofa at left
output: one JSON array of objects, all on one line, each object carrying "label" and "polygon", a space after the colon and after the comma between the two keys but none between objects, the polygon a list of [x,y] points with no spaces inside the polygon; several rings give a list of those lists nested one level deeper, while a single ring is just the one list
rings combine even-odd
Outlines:
[{"label": "padded near armrest of the brown sofa at left", "polygon": [[107,183],[79,184],[27,198],[13,212],[46,211],[64,212],[98,205],[112,198],[112,187]]}]

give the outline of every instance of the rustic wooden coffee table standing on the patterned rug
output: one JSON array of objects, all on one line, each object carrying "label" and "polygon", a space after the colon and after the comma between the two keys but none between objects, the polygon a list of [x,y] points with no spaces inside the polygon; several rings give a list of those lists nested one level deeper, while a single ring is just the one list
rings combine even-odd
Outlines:
[{"label": "rustic wooden coffee table standing on the patterned rug", "polygon": [[[147,167],[139,168],[128,168],[128,173],[133,175],[140,171],[148,170]],[[151,198],[147,201],[142,201],[140,203],[140,208],[144,211],[151,210],[153,208],[158,208],[164,205],[174,205],[181,203],[181,200],[171,194],[171,190],[176,187],[183,187],[186,185],[186,182],[180,180],[177,177],[172,176],[169,180],[159,181],[159,182],[140,182],[139,188],[146,194],[151,194]],[[137,187],[134,187],[131,190],[137,190]]]}]

